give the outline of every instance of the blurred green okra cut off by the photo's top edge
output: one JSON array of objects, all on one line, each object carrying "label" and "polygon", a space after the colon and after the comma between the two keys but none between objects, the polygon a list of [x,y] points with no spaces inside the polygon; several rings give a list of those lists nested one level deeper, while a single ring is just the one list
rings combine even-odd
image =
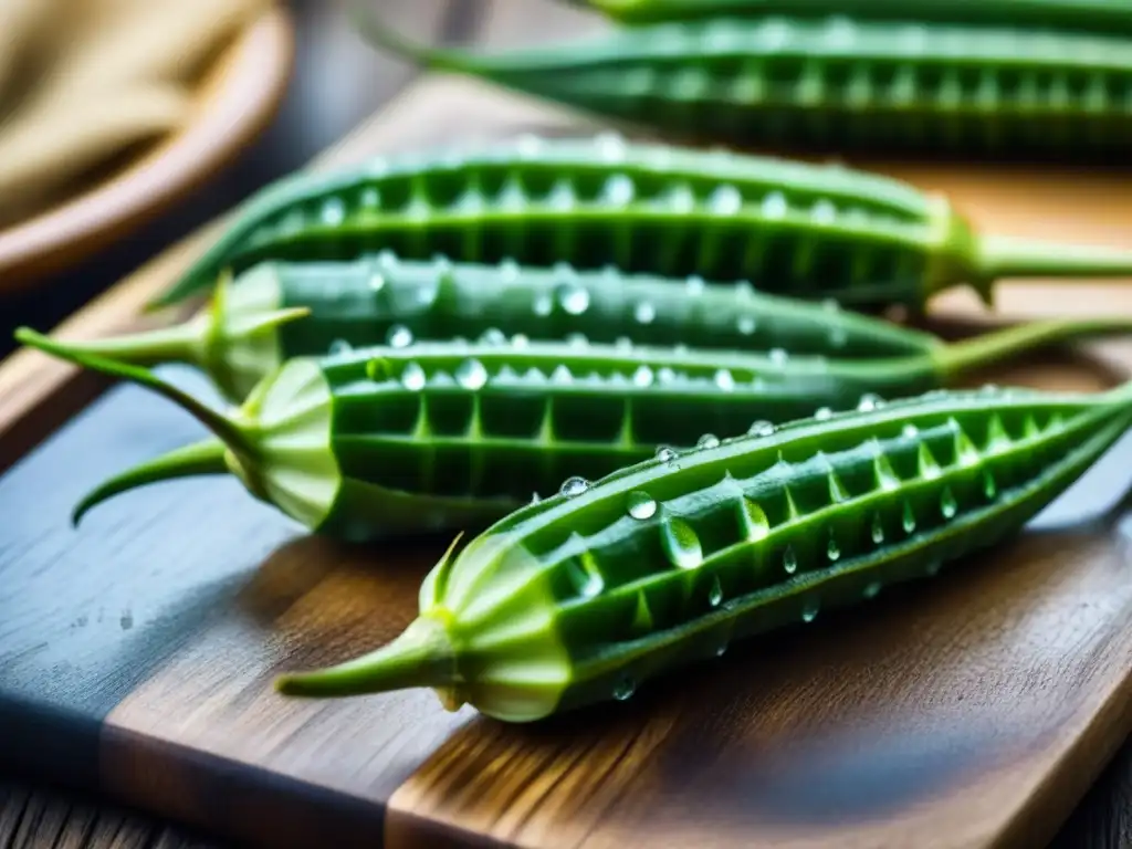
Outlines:
[{"label": "blurred green okra cut off by the photo's top edge", "polygon": [[1132,33],[1126,0],[569,0],[621,24],[764,15],[997,24],[1063,32]]}]

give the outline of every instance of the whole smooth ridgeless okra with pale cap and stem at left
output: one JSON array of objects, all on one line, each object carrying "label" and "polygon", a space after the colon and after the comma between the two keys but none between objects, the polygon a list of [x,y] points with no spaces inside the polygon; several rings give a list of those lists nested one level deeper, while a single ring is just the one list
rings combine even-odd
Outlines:
[{"label": "whole smooth ridgeless okra with pale cap and stem at left", "polygon": [[[297,320],[301,319],[301,320]],[[183,362],[231,401],[292,357],[414,341],[569,341],[827,357],[924,353],[932,334],[882,318],[756,292],[748,283],[627,275],[614,267],[402,260],[265,261],[182,325],[72,343],[120,362]]]}]

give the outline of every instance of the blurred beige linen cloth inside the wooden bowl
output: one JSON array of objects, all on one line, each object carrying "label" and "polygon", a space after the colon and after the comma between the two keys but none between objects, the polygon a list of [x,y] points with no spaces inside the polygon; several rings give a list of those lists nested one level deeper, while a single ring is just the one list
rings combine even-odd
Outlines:
[{"label": "blurred beige linen cloth inside the wooden bowl", "polygon": [[273,0],[0,0],[0,228],[191,120],[208,62]]}]

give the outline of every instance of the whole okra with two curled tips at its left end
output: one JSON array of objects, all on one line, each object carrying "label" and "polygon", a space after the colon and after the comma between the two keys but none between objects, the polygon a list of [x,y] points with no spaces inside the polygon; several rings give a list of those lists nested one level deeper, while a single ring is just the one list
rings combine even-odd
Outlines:
[{"label": "whole okra with two curled tips at its left end", "polygon": [[415,343],[288,360],[230,413],[148,370],[22,328],[51,354],[161,393],[214,436],[98,486],[105,499],[158,481],[235,475],[311,531],[351,541],[486,525],[558,488],[600,478],[658,446],[762,431],[823,410],[946,386],[1023,352],[1132,319],[1048,321],[866,360],[678,348],[530,342]]}]

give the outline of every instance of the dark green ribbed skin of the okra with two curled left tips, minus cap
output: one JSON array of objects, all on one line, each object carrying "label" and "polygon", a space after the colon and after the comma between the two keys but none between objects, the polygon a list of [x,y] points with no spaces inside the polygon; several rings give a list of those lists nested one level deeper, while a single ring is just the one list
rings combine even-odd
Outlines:
[{"label": "dark green ribbed skin of the okra with two curled left tips, minus cap", "polygon": [[[878,363],[426,342],[371,358],[321,362],[346,484],[315,530],[351,540],[495,520],[571,475],[608,474],[658,446],[691,447],[704,434],[737,436],[942,383],[923,357]],[[391,521],[385,492],[405,494],[403,518]]]}]

